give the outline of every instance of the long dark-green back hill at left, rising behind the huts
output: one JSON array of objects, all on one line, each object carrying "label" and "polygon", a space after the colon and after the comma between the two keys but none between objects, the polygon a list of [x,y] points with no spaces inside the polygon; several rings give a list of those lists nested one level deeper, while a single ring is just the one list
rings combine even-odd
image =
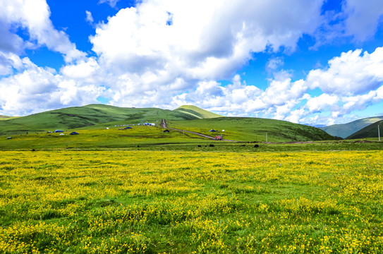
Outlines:
[{"label": "long dark-green back hill at left, rising behind the huts", "polygon": [[186,120],[195,118],[189,114],[164,109],[120,108],[91,104],[85,107],[68,107],[0,121],[0,134],[54,131],[55,129],[68,130],[110,121],[143,123],[145,121],[160,121],[161,119]]}]

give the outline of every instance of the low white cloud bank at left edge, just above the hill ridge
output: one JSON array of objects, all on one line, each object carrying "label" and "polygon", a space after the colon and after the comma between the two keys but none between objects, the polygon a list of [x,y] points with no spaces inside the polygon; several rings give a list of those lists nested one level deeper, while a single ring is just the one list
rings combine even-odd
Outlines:
[{"label": "low white cloud bank at left edge, just above the hill ridge", "polygon": [[[79,83],[20,59],[20,73],[0,80],[0,114],[25,115],[68,106],[96,103],[104,87]],[[23,70],[21,70],[23,68]]]}]

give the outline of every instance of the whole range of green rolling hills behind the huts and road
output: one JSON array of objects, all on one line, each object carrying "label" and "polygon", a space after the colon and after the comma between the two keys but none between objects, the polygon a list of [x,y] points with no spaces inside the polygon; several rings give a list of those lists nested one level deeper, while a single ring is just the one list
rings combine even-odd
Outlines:
[{"label": "whole range of green rolling hills behind the huts and road", "polygon": [[[0,121],[0,135],[38,133],[44,131],[97,130],[121,124],[159,123],[166,119],[169,127],[195,131],[215,137],[224,134],[226,140],[263,142],[296,142],[333,140],[319,128],[272,119],[223,117],[194,106],[174,111],[157,108],[121,108],[104,104],[68,107],[30,116]],[[220,133],[210,133],[210,129]],[[226,130],[221,132],[221,130]]]}]

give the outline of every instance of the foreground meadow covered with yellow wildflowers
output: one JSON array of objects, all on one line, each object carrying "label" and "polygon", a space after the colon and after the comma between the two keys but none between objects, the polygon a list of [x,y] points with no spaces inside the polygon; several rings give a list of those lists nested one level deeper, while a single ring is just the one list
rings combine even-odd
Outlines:
[{"label": "foreground meadow covered with yellow wildflowers", "polygon": [[383,152],[1,151],[0,253],[382,253]]}]

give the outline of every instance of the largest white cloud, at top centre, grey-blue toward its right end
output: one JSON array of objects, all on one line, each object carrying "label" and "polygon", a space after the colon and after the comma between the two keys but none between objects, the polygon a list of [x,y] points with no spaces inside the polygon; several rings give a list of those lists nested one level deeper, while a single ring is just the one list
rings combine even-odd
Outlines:
[{"label": "largest white cloud, at top centre, grey-blue toward its right end", "polygon": [[100,24],[90,40],[102,63],[121,73],[219,80],[243,66],[252,52],[295,49],[300,36],[320,23],[321,5],[322,1],[143,1]]}]

